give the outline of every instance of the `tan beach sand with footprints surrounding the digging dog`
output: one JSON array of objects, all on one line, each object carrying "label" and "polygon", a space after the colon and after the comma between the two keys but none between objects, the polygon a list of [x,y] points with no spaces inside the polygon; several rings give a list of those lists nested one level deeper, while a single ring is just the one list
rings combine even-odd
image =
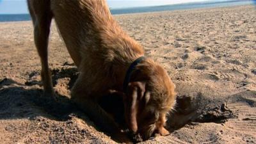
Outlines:
[{"label": "tan beach sand with footprints surrounding the digging dog", "polygon": [[[170,136],[142,143],[256,143],[253,6],[115,15],[176,84]],[[58,101],[42,97],[31,22],[0,23],[1,143],[115,143],[70,102],[77,70],[55,24],[49,63]]]}]

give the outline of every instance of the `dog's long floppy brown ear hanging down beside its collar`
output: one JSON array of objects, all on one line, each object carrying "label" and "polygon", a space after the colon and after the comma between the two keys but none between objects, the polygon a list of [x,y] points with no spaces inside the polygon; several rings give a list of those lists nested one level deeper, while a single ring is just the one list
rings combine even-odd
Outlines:
[{"label": "dog's long floppy brown ear hanging down beside its collar", "polygon": [[129,129],[133,132],[136,132],[138,130],[137,113],[139,109],[140,100],[143,98],[144,93],[144,82],[131,82],[128,84],[125,102],[125,104],[127,104],[125,108],[125,116],[127,119]]}]

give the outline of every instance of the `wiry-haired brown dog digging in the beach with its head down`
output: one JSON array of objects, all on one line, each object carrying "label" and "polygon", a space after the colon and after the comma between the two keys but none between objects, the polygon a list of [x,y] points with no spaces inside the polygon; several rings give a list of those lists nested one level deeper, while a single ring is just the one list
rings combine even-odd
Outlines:
[{"label": "wiry-haired brown dog digging in the beach with its head down", "polygon": [[[124,93],[125,120],[130,131],[147,140],[164,129],[166,113],[175,103],[174,84],[166,70],[144,58],[141,45],[113,19],[104,0],[28,0],[35,45],[42,63],[45,95],[54,95],[47,60],[52,17],[79,75],[72,99],[114,139],[128,142],[98,100],[109,90]],[[122,94],[121,94],[122,95]]]}]

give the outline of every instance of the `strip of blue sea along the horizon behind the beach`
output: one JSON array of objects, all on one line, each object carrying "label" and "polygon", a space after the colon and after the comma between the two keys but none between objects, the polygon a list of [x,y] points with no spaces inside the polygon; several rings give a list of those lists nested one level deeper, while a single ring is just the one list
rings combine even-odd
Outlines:
[{"label": "strip of blue sea along the horizon behind the beach", "polygon": [[[256,4],[256,1],[252,0],[227,0],[227,1],[204,1],[198,3],[183,3],[183,4],[171,4],[164,6],[145,6],[134,8],[110,8],[113,15],[126,14],[126,13],[145,13],[145,12],[161,12],[171,10],[189,10],[196,8],[216,8],[226,6],[239,6],[246,4]],[[256,7],[255,7],[256,8]],[[29,14],[0,14],[0,22],[10,21],[24,21],[31,20]]]}]

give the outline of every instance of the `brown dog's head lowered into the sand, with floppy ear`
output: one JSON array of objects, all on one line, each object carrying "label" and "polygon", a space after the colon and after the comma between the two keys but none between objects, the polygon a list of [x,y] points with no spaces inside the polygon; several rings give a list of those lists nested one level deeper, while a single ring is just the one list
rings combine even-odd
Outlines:
[{"label": "brown dog's head lowered into the sand, with floppy ear", "polygon": [[166,70],[145,59],[131,74],[124,99],[125,120],[129,130],[147,140],[153,134],[168,134],[166,114],[175,104],[175,85]]}]

